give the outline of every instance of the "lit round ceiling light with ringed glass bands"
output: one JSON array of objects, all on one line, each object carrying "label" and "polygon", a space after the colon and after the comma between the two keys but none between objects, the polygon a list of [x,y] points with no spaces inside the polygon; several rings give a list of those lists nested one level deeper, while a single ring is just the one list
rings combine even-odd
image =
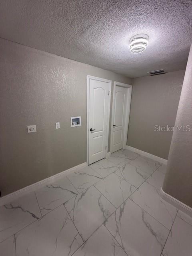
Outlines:
[{"label": "lit round ceiling light with ringed glass bands", "polygon": [[136,36],[132,36],[129,40],[129,48],[132,53],[140,53],[143,52],[148,46],[149,36],[146,34],[138,34]]}]

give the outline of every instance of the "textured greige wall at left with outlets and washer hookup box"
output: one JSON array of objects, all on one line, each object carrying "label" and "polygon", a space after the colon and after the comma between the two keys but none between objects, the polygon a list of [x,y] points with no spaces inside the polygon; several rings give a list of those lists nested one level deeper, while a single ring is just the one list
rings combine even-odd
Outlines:
[{"label": "textured greige wall at left with outlets and washer hookup box", "polygon": [[[131,80],[4,39],[0,52],[0,190],[5,195],[86,162],[87,74]],[[82,116],[82,126],[71,128],[70,116]],[[37,132],[28,134],[31,124]]]}]

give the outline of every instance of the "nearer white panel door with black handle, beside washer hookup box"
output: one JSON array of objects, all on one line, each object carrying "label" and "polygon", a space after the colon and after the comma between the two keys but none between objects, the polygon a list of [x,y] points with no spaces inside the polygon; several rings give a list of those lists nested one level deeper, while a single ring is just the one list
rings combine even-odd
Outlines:
[{"label": "nearer white panel door with black handle, beside washer hookup box", "polygon": [[88,164],[106,156],[108,144],[109,91],[111,81],[88,77],[89,128]]}]

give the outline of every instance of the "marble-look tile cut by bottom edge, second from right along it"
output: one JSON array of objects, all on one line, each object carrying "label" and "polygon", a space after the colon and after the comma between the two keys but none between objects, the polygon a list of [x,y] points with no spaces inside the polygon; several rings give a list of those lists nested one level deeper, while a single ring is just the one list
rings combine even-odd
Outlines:
[{"label": "marble-look tile cut by bottom edge, second from right along it", "polygon": [[169,230],[128,199],[108,218],[106,228],[129,256],[160,255]]}]

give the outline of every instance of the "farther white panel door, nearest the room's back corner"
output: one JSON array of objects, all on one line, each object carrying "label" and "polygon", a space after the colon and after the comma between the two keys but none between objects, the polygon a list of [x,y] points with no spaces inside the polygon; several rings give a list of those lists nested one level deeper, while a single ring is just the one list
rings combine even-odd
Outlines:
[{"label": "farther white panel door, nearest the room's back corner", "polygon": [[[114,85],[115,86],[115,85]],[[111,129],[111,153],[123,148],[126,123],[128,88],[115,86]]]}]

